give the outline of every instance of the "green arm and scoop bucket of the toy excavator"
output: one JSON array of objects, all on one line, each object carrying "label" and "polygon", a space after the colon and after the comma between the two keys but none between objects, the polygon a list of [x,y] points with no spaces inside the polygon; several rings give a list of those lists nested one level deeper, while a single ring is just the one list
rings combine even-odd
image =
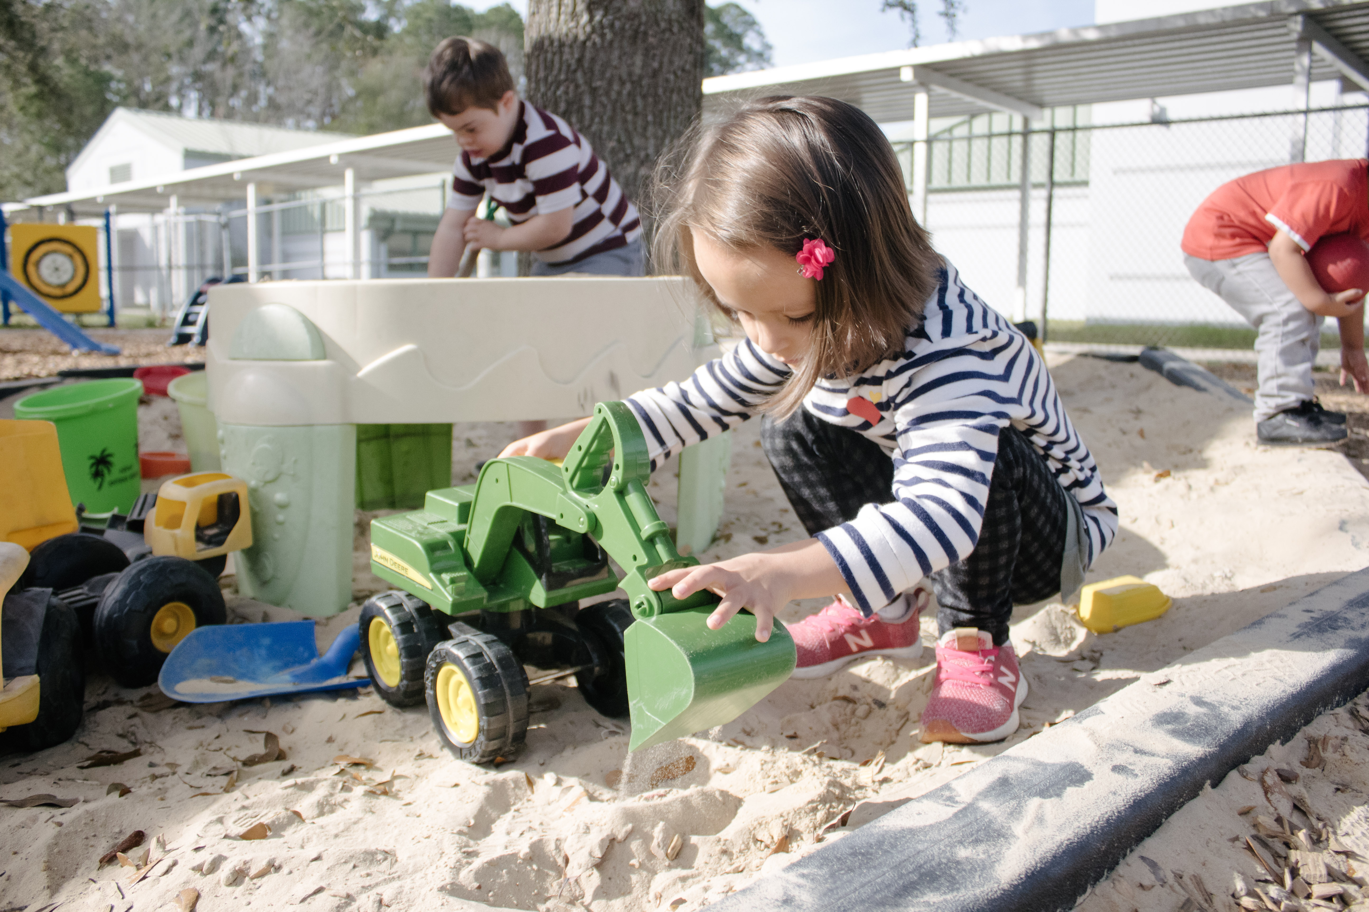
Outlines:
[{"label": "green arm and scoop bucket of the toy excavator", "polygon": [[646,494],[649,476],[637,417],[622,402],[601,402],[561,466],[533,457],[485,465],[465,540],[475,577],[494,580],[523,513],[531,511],[591,536],[623,569],[619,585],[635,618],[624,634],[631,751],[731,722],[786,681],[795,662],[794,640],[778,621],[765,643],[756,640],[756,618],[745,611],[709,630],[716,595],[679,600],[646,585],[698,563],[675,550]]}]

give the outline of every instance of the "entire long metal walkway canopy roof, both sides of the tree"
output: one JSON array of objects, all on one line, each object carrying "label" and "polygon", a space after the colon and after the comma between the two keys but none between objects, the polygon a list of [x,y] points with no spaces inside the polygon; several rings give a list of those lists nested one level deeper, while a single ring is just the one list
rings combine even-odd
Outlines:
[{"label": "entire long metal walkway canopy roof, both sides of the tree", "polygon": [[[715,77],[704,81],[704,111],[753,94],[828,94],[890,123],[913,119],[919,86],[928,88],[931,116],[993,109],[1035,116],[1039,108],[1291,85],[1299,27],[1320,52],[1313,55],[1313,79],[1347,75],[1369,88],[1369,0],[1270,0]],[[448,171],[455,159],[452,134],[434,123],[5,208],[70,205],[96,213],[118,205],[148,212],[167,208],[172,194],[182,205],[216,204],[242,198],[251,182],[259,194],[271,196],[338,186],[346,168],[364,182]]]}]

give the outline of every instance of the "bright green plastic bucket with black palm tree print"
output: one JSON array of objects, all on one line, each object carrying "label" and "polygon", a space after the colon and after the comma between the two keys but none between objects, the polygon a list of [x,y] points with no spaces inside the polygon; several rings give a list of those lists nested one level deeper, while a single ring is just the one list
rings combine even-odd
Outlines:
[{"label": "bright green plastic bucket with black palm tree print", "polygon": [[138,397],[131,379],[89,380],[19,399],[14,417],[57,425],[71,503],[86,513],[127,511],[141,492]]}]

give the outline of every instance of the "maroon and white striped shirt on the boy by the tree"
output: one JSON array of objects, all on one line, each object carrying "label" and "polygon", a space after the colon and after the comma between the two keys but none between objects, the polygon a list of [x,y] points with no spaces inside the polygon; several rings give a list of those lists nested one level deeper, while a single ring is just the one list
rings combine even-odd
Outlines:
[{"label": "maroon and white striped shirt on the boy by the tree", "polygon": [[642,220],[589,139],[564,119],[519,103],[509,144],[489,159],[463,152],[456,160],[449,209],[470,212],[485,193],[519,224],[535,215],[575,208],[571,232],[533,256],[549,264],[579,263],[627,246],[642,235]]}]

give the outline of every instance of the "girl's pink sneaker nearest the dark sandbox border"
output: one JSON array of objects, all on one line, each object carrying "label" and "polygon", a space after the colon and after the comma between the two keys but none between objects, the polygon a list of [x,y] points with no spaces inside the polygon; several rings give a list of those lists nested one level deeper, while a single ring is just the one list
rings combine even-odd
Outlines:
[{"label": "girl's pink sneaker nearest the dark sandbox border", "polygon": [[924,744],[1002,741],[1017,730],[1027,678],[1013,644],[995,647],[975,628],[956,628],[936,644],[936,678],[923,710]]}]

